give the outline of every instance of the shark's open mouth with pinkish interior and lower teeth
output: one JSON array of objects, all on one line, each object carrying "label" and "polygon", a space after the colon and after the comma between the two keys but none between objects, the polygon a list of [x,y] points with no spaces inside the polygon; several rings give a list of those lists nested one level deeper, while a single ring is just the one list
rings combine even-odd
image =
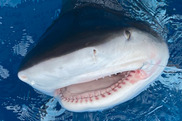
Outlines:
[{"label": "shark's open mouth with pinkish interior and lower teeth", "polygon": [[147,78],[143,70],[125,71],[97,80],[73,84],[56,90],[62,101],[70,103],[93,102],[117,93],[126,85]]}]

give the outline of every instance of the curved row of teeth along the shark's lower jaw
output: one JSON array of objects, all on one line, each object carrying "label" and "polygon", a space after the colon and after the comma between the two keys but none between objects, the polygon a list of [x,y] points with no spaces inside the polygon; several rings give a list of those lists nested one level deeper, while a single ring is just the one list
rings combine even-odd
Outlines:
[{"label": "curved row of teeth along the shark's lower jaw", "polygon": [[112,84],[110,87],[105,89],[93,90],[90,92],[85,92],[78,94],[76,96],[65,97],[63,94],[63,89],[58,90],[58,95],[62,99],[62,101],[71,102],[71,103],[82,103],[82,102],[93,102],[94,100],[99,100],[101,98],[106,98],[107,96],[116,93],[118,90],[122,89],[126,84],[134,84],[140,80],[140,78],[136,78],[140,73],[143,72],[141,70],[128,71],[117,73],[125,75],[122,79],[118,80],[116,83]]}]

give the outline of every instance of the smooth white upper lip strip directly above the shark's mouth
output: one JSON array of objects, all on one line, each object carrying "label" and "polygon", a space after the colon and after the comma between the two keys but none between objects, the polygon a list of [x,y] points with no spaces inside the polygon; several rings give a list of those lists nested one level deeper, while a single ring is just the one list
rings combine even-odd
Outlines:
[{"label": "smooth white upper lip strip directly above the shark's mouth", "polygon": [[89,82],[92,80],[97,80],[97,79],[104,78],[106,76],[110,76],[113,74],[121,73],[124,71],[141,69],[143,67],[144,62],[145,62],[144,60],[136,60],[134,62],[123,63],[120,65],[107,67],[102,70],[80,74],[75,76],[74,78],[69,78],[68,80],[64,80],[64,82],[61,81],[60,84],[57,84],[58,86],[56,87],[56,89],[66,87],[72,84],[78,84],[78,83]]}]

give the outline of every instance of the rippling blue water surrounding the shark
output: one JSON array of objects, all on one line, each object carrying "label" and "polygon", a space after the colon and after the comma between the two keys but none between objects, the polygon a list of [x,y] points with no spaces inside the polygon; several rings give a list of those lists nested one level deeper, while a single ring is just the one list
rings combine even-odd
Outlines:
[{"label": "rippling blue water surrounding the shark", "polygon": [[[165,71],[134,99],[99,112],[73,113],[17,78],[24,56],[61,12],[88,4],[144,21],[168,43]],[[182,121],[181,0],[0,0],[0,121]]]}]

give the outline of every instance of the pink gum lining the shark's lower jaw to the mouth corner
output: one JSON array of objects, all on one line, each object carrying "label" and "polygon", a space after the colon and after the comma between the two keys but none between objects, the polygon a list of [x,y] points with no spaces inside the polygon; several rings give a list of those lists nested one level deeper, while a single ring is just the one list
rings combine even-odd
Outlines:
[{"label": "pink gum lining the shark's lower jaw to the mouth corner", "polygon": [[61,89],[57,89],[55,91],[55,95],[59,95],[62,100],[72,103],[83,103],[83,102],[93,102],[93,100],[99,100],[100,98],[105,98],[109,95],[112,95],[112,93],[117,92],[120,88],[122,88],[124,85],[126,85],[128,82],[130,84],[135,84],[136,82],[146,79],[149,75],[144,70],[136,70],[136,71],[130,71],[127,76],[119,80],[116,84],[112,85],[111,87],[108,87],[107,89],[102,90],[96,90],[89,93],[82,93],[75,97],[64,97],[62,95]]}]

